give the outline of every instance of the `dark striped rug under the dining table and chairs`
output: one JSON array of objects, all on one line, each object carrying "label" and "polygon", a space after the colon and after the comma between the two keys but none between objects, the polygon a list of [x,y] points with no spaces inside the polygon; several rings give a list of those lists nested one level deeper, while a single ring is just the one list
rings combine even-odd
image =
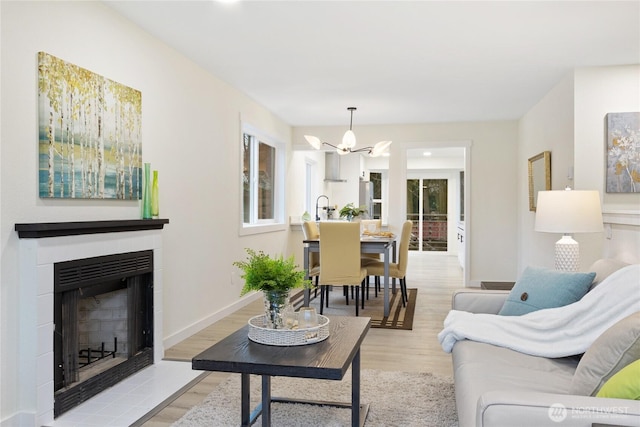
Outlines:
[{"label": "dark striped rug under the dining table and chairs", "polygon": [[[406,307],[402,306],[402,297],[400,289],[389,295],[389,316],[384,316],[384,294],[378,292],[378,296],[374,297],[373,289],[369,291],[369,299],[364,301],[364,310],[360,306],[360,316],[371,317],[372,328],[384,329],[413,329],[413,315],[416,309],[416,297],[418,290],[415,288],[407,289],[409,294],[409,302]],[[294,307],[302,305],[303,293],[299,292],[291,297]],[[356,308],[353,299],[349,299],[349,305],[345,304],[345,297],[342,293],[342,287],[336,286],[329,292],[329,307],[324,308],[324,314],[328,316],[355,316]],[[320,313],[320,296],[314,297],[311,291],[311,307],[315,307]]]}]

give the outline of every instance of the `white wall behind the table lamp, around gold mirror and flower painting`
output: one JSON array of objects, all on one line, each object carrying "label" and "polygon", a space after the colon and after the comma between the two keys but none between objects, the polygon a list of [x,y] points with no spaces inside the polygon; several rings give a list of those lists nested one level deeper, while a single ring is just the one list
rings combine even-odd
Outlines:
[{"label": "white wall behind the table lamp, around gold mirror and flower painting", "polygon": [[[580,269],[598,258],[640,261],[640,194],[607,194],[606,114],[640,111],[640,66],[577,69],[556,85],[520,120],[518,162],[518,271],[527,265],[553,267],[554,243],[560,236],[533,231],[528,211],[526,161],[551,151],[552,189],[567,184],[598,190],[603,201],[604,233],[577,234]],[[567,179],[570,167],[573,181]]]}]

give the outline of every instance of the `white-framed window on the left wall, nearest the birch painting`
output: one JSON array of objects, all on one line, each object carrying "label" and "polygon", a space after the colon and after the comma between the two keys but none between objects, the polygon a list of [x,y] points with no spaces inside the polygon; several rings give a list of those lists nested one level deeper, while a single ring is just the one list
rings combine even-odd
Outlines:
[{"label": "white-framed window on the left wall, nearest the birch painting", "polygon": [[284,148],[244,125],[242,130],[243,227],[283,222]]}]

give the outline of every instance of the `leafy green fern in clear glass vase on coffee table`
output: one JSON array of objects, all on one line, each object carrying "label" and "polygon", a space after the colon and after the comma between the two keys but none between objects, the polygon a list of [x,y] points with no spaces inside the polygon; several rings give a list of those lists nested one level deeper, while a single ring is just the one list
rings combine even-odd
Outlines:
[{"label": "leafy green fern in clear glass vase on coffee table", "polygon": [[269,328],[285,327],[285,310],[289,306],[289,291],[295,288],[309,287],[311,281],[305,279],[306,272],[298,269],[293,256],[282,255],[272,258],[263,251],[246,249],[245,261],[233,263],[242,270],[244,286],[240,295],[252,291],[264,294],[265,320]]}]

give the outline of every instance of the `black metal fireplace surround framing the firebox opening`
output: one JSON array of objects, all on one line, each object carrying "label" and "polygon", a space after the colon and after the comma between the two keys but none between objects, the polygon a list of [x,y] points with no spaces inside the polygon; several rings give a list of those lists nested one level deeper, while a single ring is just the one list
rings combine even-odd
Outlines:
[{"label": "black metal fireplace surround framing the firebox opening", "polygon": [[[54,417],[153,364],[153,251],[129,252],[54,265]],[[127,359],[79,382],[78,300],[127,292]],[[108,343],[108,345],[113,345]],[[114,352],[115,348],[111,347]]]}]

